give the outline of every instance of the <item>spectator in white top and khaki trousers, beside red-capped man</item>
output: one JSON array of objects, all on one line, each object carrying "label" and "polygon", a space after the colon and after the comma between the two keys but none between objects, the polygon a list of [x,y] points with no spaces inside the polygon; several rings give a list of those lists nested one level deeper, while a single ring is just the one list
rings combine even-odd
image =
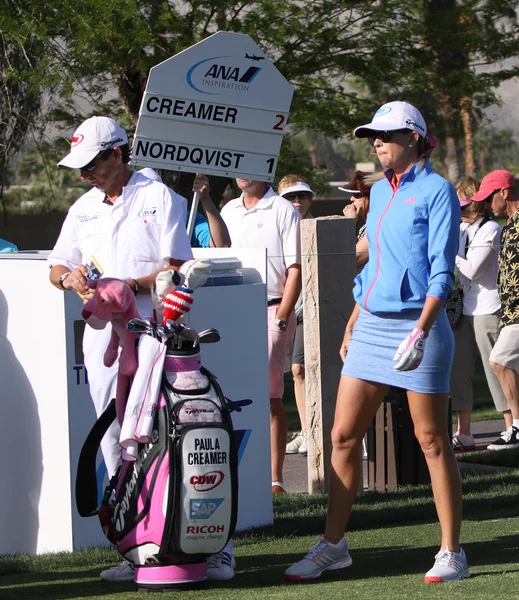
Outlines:
[{"label": "spectator in white top and khaki trousers, beside red-capped man", "polygon": [[463,316],[454,329],[455,352],[451,371],[452,409],[457,413],[457,430],[452,437],[455,452],[475,450],[470,431],[473,408],[472,377],[478,356],[485,370],[496,410],[511,424],[503,390],[488,358],[499,336],[501,302],[497,290],[501,226],[490,218],[490,202],[471,200],[478,191],[471,177],[456,187],[461,204],[460,246],[456,267],[463,288]]}]

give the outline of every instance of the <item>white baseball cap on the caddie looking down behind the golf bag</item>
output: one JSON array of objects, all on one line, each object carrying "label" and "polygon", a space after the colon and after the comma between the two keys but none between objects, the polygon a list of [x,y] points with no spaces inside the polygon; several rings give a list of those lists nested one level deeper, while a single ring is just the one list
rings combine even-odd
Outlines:
[{"label": "white baseball cap on the caddie looking down behind the golf bag", "polygon": [[128,143],[126,131],[109,117],[90,117],[76,129],[70,140],[70,152],[58,167],[81,169],[103,150]]}]

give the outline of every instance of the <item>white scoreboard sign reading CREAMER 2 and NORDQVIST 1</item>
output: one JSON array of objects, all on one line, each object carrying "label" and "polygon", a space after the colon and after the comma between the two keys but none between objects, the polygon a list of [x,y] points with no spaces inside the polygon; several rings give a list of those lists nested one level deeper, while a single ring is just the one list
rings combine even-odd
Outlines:
[{"label": "white scoreboard sign reading CREAMER 2 and NORDQVIST 1", "polygon": [[292,94],[252,38],[215,33],[151,69],[132,164],[273,181]]}]

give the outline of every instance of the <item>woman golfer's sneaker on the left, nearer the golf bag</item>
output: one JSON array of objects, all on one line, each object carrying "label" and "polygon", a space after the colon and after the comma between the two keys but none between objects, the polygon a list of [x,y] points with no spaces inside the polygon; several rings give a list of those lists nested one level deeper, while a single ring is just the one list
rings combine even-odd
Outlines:
[{"label": "woman golfer's sneaker on the left, nearer the golf bag", "polygon": [[285,571],[285,579],[289,581],[311,581],[317,579],[324,571],[345,569],[352,563],[348,544],[345,538],[338,544],[329,544],[319,540],[310,552],[295,565]]}]

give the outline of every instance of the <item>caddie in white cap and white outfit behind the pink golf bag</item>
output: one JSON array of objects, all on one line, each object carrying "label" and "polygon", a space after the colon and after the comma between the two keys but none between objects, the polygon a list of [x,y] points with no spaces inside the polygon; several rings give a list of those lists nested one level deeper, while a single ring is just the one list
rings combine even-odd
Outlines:
[{"label": "caddie in white cap and white outfit behind the pink golf bag", "polygon": [[[157,274],[181,266],[192,252],[185,227],[186,200],[163,183],[132,171],[129,160],[126,132],[113,119],[91,117],[75,131],[70,152],[58,166],[79,169],[81,180],[92,188],[71,206],[48,264],[56,288],[82,297],[91,293],[89,277],[125,280],[137,297],[139,312],[146,316],[151,313],[150,285]],[[115,397],[117,362],[110,368],[103,365],[110,333],[110,327],[101,331],[87,327],[83,339],[98,415]],[[118,442],[119,427],[114,424],[102,443],[109,477],[120,459]],[[227,562],[231,561],[232,556]],[[223,575],[208,561],[208,578],[229,579],[234,570],[227,568]],[[133,581],[133,576],[128,561],[101,573],[107,581]]]}]

